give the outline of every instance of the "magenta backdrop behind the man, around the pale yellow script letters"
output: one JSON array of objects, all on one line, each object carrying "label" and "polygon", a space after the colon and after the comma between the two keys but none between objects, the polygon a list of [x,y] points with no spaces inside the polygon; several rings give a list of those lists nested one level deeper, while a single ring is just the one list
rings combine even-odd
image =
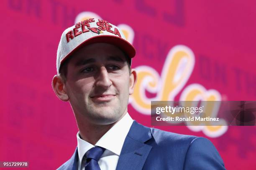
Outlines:
[{"label": "magenta backdrop behind the man, around the pale yellow script letters", "polygon": [[[90,11],[134,31],[133,67],[159,74],[169,50],[186,45],[195,67],[184,87],[199,83],[223,100],[256,100],[256,1],[4,0],[0,7],[0,160],[29,161],[30,169],[56,169],[76,147],[77,125],[67,102],[55,96],[56,50],[62,31]],[[175,97],[179,99],[180,93]],[[128,106],[133,119],[150,117]],[[209,138],[228,169],[256,168],[256,128],[229,127],[218,138],[184,126],[158,127]]]}]

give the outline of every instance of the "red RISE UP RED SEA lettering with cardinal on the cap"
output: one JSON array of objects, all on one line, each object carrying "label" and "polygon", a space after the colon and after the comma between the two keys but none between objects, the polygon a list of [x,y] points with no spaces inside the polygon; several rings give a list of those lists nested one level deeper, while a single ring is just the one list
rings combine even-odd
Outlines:
[{"label": "red RISE UP RED SEA lettering with cardinal on the cap", "polygon": [[108,21],[98,19],[98,22],[96,23],[98,28],[96,27],[91,28],[90,23],[94,23],[94,22],[95,22],[95,19],[90,18],[88,20],[84,20],[79,23],[76,23],[75,28],[73,28],[66,34],[67,42],[72,40],[74,37],[77,37],[78,35],[81,35],[82,33],[86,33],[89,31],[97,33],[98,35],[101,33],[104,33],[103,31],[107,31],[114,35],[118,35],[121,38],[119,30],[117,28],[113,29],[113,25],[110,24]]}]

